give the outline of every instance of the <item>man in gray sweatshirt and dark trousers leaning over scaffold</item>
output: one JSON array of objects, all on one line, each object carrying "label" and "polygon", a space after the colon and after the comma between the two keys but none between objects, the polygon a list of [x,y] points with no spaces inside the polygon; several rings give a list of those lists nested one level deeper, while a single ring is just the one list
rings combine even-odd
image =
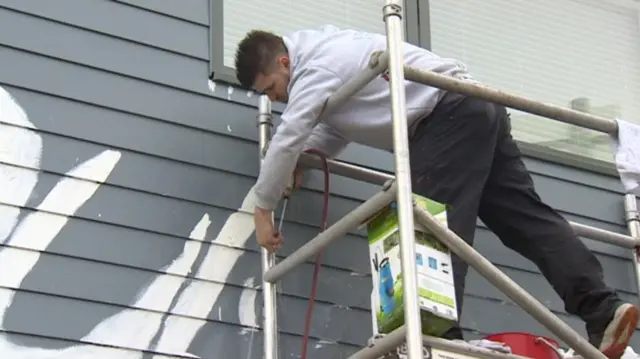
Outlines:
[{"label": "man in gray sweatshirt and dark trousers leaning over scaffold", "polygon": [[[385,49],[382,35],[333,26],[286,37],[251,31],[238,45],[240,83],[287,103],[255,187],[256,238],[263,247],[273,251],[283,243],[271,215],[303,150],[334,157],[356,142],[393,151],[389,84],[382,77],[314,127],[325,100],[366,68],[372,52]],[[410,66],[473,81],[456,60],[410,44],[403,51]],[[540,268],[566,311],[586,322],[590,342],[609,358],[620,358],[638,309],[604,284],[596,257],[538,197],[505,108],[413,82],[405,88],[413,191],[451,205],[449,228],[469,244],[479,216],[507,247]],[[453,266],[462,308],[467,265],[454,256]],[[461,330],[446,337],[461,339]]]}]

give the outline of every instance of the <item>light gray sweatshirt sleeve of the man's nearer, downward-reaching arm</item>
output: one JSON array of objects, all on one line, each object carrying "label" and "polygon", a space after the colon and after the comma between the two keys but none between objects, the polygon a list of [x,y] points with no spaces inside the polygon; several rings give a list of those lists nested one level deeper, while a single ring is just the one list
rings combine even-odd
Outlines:
[{"label": "light gray sweatshirt sleeve of the man's nearer, downward-reaching arm", "polygon": [[276,208],[325,101],[342,85],[335,73],[319,67],[306,68],[291,81],[294,83],[289,90],[289,101],[255,185],[256,206],[267,210]]}]

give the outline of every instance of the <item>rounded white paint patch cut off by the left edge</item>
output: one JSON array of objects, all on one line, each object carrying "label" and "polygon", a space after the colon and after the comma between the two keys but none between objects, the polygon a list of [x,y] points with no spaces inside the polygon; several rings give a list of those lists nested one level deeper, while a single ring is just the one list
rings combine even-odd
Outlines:
[{"label": "rounded white paint patch cut off by the left edge", "polygon": [[[40,168],[42,156],[42,138],[34,131],[27,114],[11,95],[0,87],[0,162],[22,165],[29,168]],[[21,127],[16,127],[21,126]],[[17,167],[2,166],[0,168],[0,203],[8,203],[9,198],[18,206],[25,205],[31,191],[38,181],[37,172],[20,171]],[[17,224],[20,208],[5,207],[0,209],[0,244],[6,242],[9,234]]]}]

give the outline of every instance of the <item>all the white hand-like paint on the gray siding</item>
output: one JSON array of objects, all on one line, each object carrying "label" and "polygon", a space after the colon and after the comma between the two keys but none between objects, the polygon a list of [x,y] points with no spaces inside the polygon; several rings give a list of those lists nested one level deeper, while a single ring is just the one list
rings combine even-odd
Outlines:
[{"label": "all the white hand-like paint on the gray siding", "polygon": [[[106,181],[120,160],[120,153],[104,151],[79,164],[61,179],[35,211],[19,223],[20,207],[24,206],[37,182],[42,154],[42,139],[33,131],[26,113],[18,103],[0,88],[0,243],[9,243],[0,251],[0,330],[7,309],[24,278],[33,270],[40,255],[64,228],[70,216],[82,206]],[[11,124],[11,125],[4,125]],[[10,129],[5,131],[5,129]],[[227,219],[209,246],[195,278],[222,280],[226,278],[254,230],[250,213],[255,205],[253,188],[247,193],[238,211]],[[197,358],[186,353],[198,330],[206,323],[211,308],[218,300],[223,285],[205,280],[193,280],[180,293],[175,308],[166,320],[171,303],[180,292],[185,277],[190,274],[201,251],[211,224],[204,214],[186,240],[183,252],[163,268],[149,286],[141,288],[135,303],[100,322],[80,341],[86,344],[65,349],[23,347],[0,333],[0,357],[11,359],[141,359],[143,350],[153,349],[154,359],[175,357]],[[222,245],[222,246],[220,246]],[[215,274],[212,274],[215,273]],[[257,327],[253,282],[247,281],[241,295],[240,323]],[[151,341],[163,329],[156,348]],[[98,344],[98,345],[96,345]],[[100,346],[102,345],[102,346]],[[108,347],[106,347],[106,346]]]}]

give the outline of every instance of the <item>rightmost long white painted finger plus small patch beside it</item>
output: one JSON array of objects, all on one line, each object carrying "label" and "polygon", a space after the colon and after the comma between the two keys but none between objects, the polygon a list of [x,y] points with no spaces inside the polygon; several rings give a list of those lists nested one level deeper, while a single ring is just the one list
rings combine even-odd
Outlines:
[{"label": "rightmost long white painted finger plus small patch beside it", "polygon": [[[245,196],[238,212],[229,216],[222,226],[214,243],[244,246],[253,233],[253,217],[249,214],[253,212],[256,197],[254,189],[251,188]],[[198,268],[197,278],[210,277],[208,273],[216,273],[216,276],[227,277],[234,265],[242,255],[242,251],[223,251],[211,246],[202,264]],[[223,286],[214,286],[204,281],[193,280],[182,292],[173,312],[178,315],[188,315],[196,318],[206,318],[211,308],[218,300]],[[254,292],[252,289],[244,291]],[[245,294],[243,293],[242,296]],[[241,296],[241,297],[242,297]],[[249,302],[245,297],[244,311],[255,313],[255,301]],[[218,316],[221,316],[221,309],[218,308]],[[248,320],[250,323],[245,323]],[[240,316],[240,324],[252,326],[255,318]],[[185,321],[179,317],[169,317],[165,330],[158,342],[157,350],[162,352],[185,352],[197,332],[205,325],[205,321]]]}]

